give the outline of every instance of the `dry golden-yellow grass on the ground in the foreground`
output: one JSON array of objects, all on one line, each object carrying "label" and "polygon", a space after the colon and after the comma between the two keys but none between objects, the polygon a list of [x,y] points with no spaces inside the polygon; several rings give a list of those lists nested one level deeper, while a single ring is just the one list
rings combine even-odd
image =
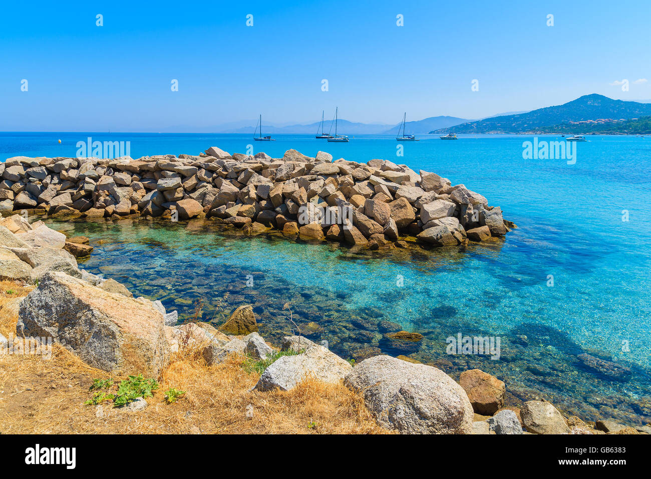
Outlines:
[{"label": "dry golden-yellow grass on the ground in the foreground", "polygon": [[[3,315],[8,300],[29,289],[0,282],[0,331],[8,336],[16,317]],[[4,294],[12,289],[16,293]],[[53,357],[0,356],[0,433],[386,433],[364,406],[363,399],[343,385],[308,379],[290,392],[257,392],[251,388],[258,373],[247,373],[238,358],[206,366],[193,351],[173,356],[159,378],[160,388],[139,413],[113,409],[104,403],[102,414],[90,399],[92,379],[119,380],[90,368],[59,345]],[[168,388],[186,391],[166,403]],[[247,418],[247,406],[253,418]]]}]

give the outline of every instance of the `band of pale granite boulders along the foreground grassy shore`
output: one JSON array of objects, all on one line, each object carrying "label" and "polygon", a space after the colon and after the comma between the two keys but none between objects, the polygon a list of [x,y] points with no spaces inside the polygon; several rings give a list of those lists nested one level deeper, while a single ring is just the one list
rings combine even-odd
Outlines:
[{"label": "band of pale granite boulders along the foreground grassy shore", "polygon": [[[19,215],[0,218],[0,276],[36,283],[27,296],[0,310],[0,315],[8,310],[17,317],[14,341],[52,338],[94,368],[154,378],[169,367],[175,353],[188,347],[209,367],[233,357],[274,358],[255,385],[260,394],[292,390],[308,377],[343,383],[363,396],[381,428],[400,433],[635,434],[651,429],[564,418],[547,401],[505,404],[505,383],[478,369],[464,371],[456,383],[411,358],[379,354],[351,364],[303,336],[285,337],[275,347],[258,334],[249,305],[238,307],[222,325],[196,320],[176,325],[174,312],[167,313],[160,302],[134,298],[115,280],[78,268],[65,249],[69,243],[42,222],[29,224]],[[22,278],[6,273],[22,270]],[[409,341],[415,334],[401,331],[392,337]],[[0,337],[3,347],[8,341]],[[137,400],[138,410],[145,407],[146,401]]]}]

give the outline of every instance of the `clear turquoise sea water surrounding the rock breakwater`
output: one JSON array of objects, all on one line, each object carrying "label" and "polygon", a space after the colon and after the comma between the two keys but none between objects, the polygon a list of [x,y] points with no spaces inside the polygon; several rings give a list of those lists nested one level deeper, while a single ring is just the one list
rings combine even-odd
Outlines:
[{"label": "clear turquoise sea water surrounding the rock breakwater", "polygon": [[[512,403],[546,398],[566,413],[628,424],[651,420],[651,138],[590,136],[565,160],[523,160],[525,136],[425,136],[404,144],[361,136],[327,143],[311,136],[254,142],[243,135],[0,133],[0,157],[75,156],[76,142],[130,141],[131,156],[230,152],[282,156],[294,148],[335,158],[384,158],[464,183],[499,205],[518,229],[505,240],[469,248],[352,253],[332,244],[241,237],[212,222],[57,222],[96,246],[84,266],[135,295],[160,298],[191,315],[193,300],[227,310],[254,304],[261,332],[289,332],[283,304],[310,338],[342,356],[380,349],[430,362],[452,375],[480,368],[506,383]],[[57,143],[62,139],[62,143]],[[540,136],[540,140],[561,138]],[[626,215],[628,214],[628,221]],[[247,275],[253,286],[247,286]],[[553,285],[549,276],[553,276]],[[402,278],[402,280],[401,280]],[[381,321],[421,332],[396,344]],[[449,336],[499,336],[501,358],[447,355]],[[518,337],[520,336],[520,337]],[[523,340],[522,336],[527,336]],[[631,369],[615,381],[587,368],[589,353]]]}]

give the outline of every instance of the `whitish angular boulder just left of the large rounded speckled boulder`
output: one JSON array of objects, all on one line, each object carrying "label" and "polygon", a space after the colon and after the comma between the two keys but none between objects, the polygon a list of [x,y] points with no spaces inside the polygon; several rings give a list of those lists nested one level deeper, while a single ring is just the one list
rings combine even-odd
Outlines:
[{"label": "whitish angular boulder just left of the large rounded speckled boulder", "polygon": [[[306,341],[301,338],[301,343]],[[298,341],[297,341],[298,343]],[[280,389],[288,391],[303,379],[318,379],[324,383],[338,383],[352,366],[322,345],[311,343],[298,355],[282,356],[269,366],[255,385],[259,391]]]}]

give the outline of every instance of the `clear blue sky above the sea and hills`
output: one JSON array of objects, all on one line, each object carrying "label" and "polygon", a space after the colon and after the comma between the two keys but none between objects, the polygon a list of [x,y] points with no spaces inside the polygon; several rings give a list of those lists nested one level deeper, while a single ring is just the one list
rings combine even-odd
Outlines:
[{"label": "clear blue sky above the sea and hills", "polygon": [[[475,119],[587,93],[651,98],[649,81],[633,83],[651,80],[648,0],[0,8],[0,130],[211,131],[258,113],[309,123],[335,106],[351,121],[395,124],[404,111]],[[623,79],[629,91],[611,85]]]}]

